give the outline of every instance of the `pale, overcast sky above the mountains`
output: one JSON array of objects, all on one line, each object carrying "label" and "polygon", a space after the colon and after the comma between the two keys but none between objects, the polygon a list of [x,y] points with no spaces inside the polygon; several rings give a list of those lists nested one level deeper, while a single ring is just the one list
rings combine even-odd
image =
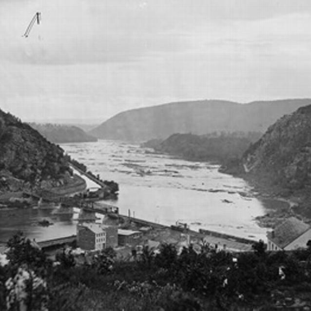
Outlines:
[{"label": "pale, overcast sky above the mountains", "polygon": [[311,97],[310,51],[310,0],[0,0],[0,109],[99,123],[172,101]]}]

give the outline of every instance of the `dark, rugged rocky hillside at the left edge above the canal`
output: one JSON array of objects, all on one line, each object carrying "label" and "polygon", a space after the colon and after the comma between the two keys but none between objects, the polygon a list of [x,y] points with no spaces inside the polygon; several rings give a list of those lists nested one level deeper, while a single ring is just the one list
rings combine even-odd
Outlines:
[{"label": "dark, rugged rocky hillside at the left edge above the canal", "polygon": [[71,174],[61,148],[0,110],[0,193],[58,187]]}]

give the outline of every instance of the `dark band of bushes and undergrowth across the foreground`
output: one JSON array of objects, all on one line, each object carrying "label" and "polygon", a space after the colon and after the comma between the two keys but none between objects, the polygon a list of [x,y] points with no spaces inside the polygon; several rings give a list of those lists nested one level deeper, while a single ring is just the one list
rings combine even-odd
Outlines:
[{"label": "dark band of bushes and undergrowth across the foreground", "polygon": [[276,301],[311,303],[310,246],[267,253],[259,242],[254,252],[234,257],[208,245],[200,253],[190,246],[178,254],[173,245],[163,244],[157,254],[145,247],[132,262],[117,261],[108,249],[93,255],[90,264],[79,265],[70,251],[52,263],[22,234],[8,246],[9,262],[0,260],[1,310],[17,311],[21,302],[28,311],[268,311]]}]

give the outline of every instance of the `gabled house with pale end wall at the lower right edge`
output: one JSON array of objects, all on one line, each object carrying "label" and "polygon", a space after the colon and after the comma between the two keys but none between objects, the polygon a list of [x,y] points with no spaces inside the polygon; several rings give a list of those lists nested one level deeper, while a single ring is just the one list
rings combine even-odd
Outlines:
[{"label": "gabled house with pale end wall at the lower right edge", "polygon": [[311,227],[305,222],[290,217],[267,233],[268,251],[290,251],[307,247],[311,240]]}]

